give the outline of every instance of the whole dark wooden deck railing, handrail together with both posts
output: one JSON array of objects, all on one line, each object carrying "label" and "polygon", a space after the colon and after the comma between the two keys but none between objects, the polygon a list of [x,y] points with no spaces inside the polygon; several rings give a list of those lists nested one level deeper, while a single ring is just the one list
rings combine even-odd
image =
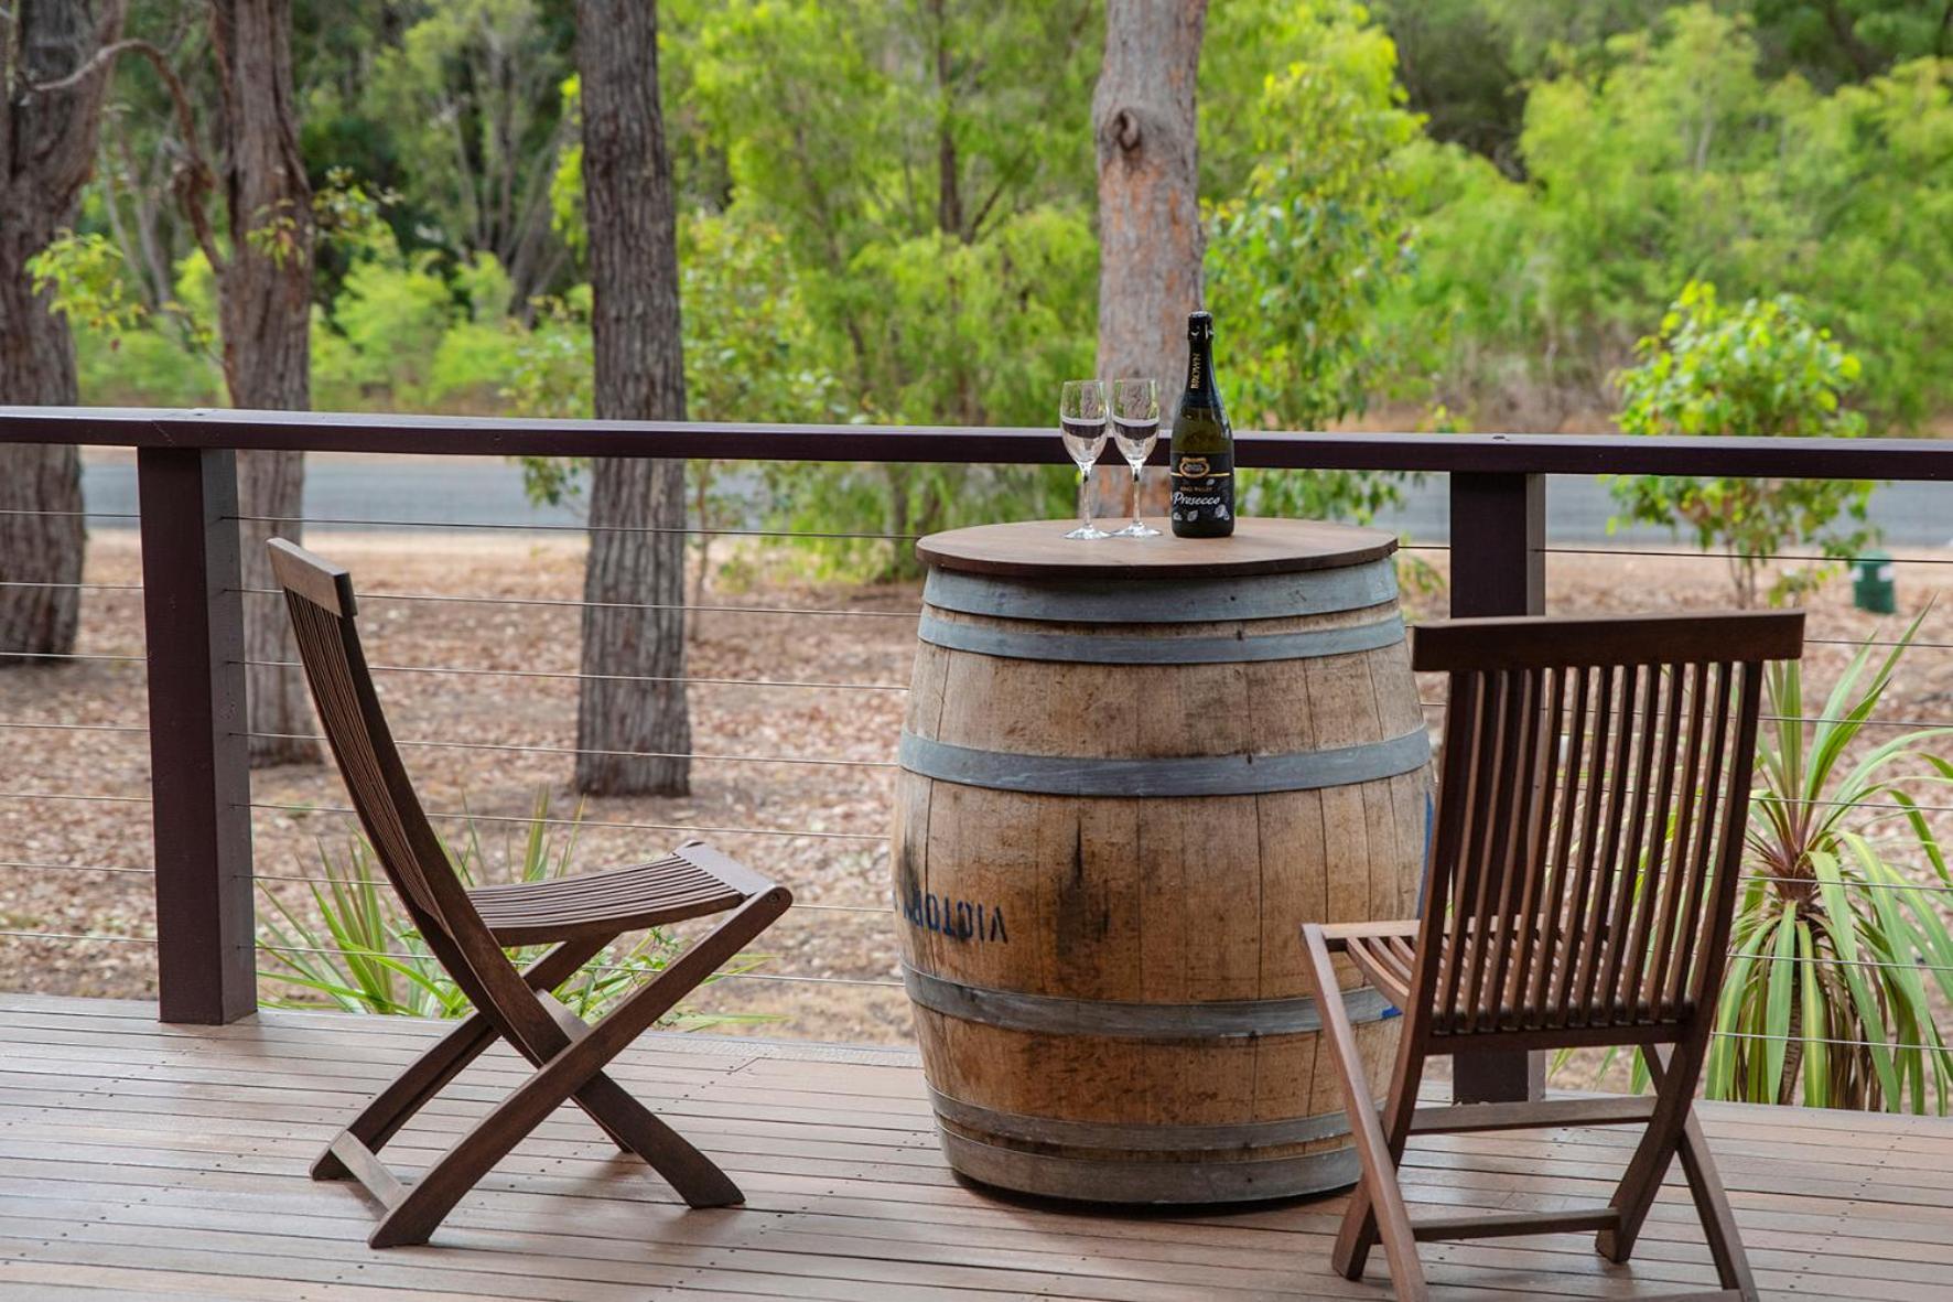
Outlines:
[{"label": "whole dark wooden deck railing, handrail together with both posts", "polygon": [[[1451,495],[1451,612],[1545,608],[1545,475],[1953,479],[1953,440],[1240,432],[1244,467],[1437,471]],[[234,528],[238,450],[721,461],[1062,463],[1051,430],[502,420],[0,407],[0,442],[137,450],[162,1019],[256,1009],[250,782]],[[1164,461],[1166,448],[1156,454]],[[1953,506],[1953,495],[1949,495]],[[1527,1091],[1521,1060],[1461,1097]],[[1531,1067],[1537,1089],[1537,1063]]]}]

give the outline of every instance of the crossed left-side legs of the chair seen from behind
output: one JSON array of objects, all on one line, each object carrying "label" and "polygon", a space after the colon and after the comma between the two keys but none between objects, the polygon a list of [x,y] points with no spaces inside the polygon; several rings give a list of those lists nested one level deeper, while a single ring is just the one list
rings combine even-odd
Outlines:
[{"label": "crossed left-side legs of the chair seen from behind", "polygon": [[[1365,1228],[1383,1239],[1383,1253],[1391,1263],[1391,1284],[1400,1302],[1424,1302],[1430,1290],[1424,1282],[1424,1267],[1418,1261],[1418,1241],[1410,1230],[1410,1210],[1404,1206],[1404,1193],[1396,1185],[1396,1157],[1402,1153],[1402,1136],[1396,1151],[1371,1101],[1369,1079],[1363,1073],[1363,1060],[1355,1048],[1355,1030],[1350,1026],[1350,1013],[1342,1003],[1342,989],[1336,985],[1336,966],[1330,962],[1322,931],[1303,929],[1303,944],[1309,956],[1309,970],[1316,987],[1316,1009],[1322,1015],[1322,1044],[1336,1065],[1342,1083],[1344,1105],[1350,1116],[1350,1140],[1355,1144],[1363,1179],[1350,1196],[1350,1212],[1344,1216],[1344,1232],[1336,1236],[1336,1269],[1350,1279],[1361,1279],[1369,1245],[1363,1241]],[[1402,1056],[1400,1056],[1402,1060]],[[1392,1105],[1402,1091],[1402,1073],[1392,1089]],[[1412,1097],[1416,1091],[1408,1091]],[[1391,1107],[1392,1122],[1400,1108]],[[1402,1134],[1408,1134],[1408,1112],[1400,1120]],[[1394,1126],[1392,1126],[1394,1128]]]}]

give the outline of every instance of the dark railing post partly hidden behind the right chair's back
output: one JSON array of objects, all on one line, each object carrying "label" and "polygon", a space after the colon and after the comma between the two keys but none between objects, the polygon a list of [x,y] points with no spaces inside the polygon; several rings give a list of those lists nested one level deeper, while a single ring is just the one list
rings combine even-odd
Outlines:
[{"label": "dark railing post partly hidden behind the right chair's back", "polygon": [[[1451,616],[1547,612],[1547,477],[1451,475]],[[1543,1054],[1463,1054],[1451,1063],[1457,1103],[1539,1099]]]}]

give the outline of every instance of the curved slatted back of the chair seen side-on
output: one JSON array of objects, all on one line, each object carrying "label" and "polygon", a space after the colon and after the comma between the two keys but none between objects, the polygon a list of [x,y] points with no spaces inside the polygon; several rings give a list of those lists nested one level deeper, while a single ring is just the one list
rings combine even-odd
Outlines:
[{"label": "curved slatted back of the chair seen side-on", "polygon": [[477,1009],[533,1022],[519,974],[469,901],[393,743],[359,647],[352,575],[283,538],[270,549],[318,721],[387,880]]}]

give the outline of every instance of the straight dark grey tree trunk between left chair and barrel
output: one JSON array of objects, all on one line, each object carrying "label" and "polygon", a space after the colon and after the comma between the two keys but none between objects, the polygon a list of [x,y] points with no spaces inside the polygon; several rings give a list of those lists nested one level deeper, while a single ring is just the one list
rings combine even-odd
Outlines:
[{"label": "straight dark grey tree trunk between left chair and barrel", "polygon": [[[576,66],[596,414],[682,420],[678,215],[658,106],[656,4],[578,0]],[[592,463],[582,671],[609,676],[586,676],[578,694],[580,792],[684,796],[691,788],[691,719],[678,682],[686,673],[684,522],[684,461]]]}]

